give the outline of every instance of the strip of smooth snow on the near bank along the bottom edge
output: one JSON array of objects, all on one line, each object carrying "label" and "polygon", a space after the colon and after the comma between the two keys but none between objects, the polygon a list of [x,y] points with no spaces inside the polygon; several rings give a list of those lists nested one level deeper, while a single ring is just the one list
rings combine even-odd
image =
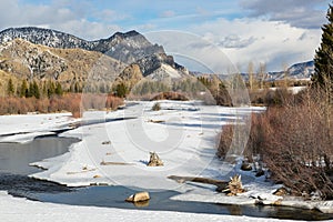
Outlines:
[{"label": "strip of smooth snow on the near bank along the bottom edge", "polygon": [[[230,222],[254,222],[268,221],[268,219],[218,215],[218,214],[195,214],[183,212],[168,211],[140,211],[140,210],[122,210],[113,208],[95,208],[95,206],[74,206],[61,205],[53,203],[41,203],[37,201],[28,201],[8,195],[0,192],[0,215],[6,222],[32,222],[32,221],[230,221]],[[270,219],[270,221],[287,221]]]}]

